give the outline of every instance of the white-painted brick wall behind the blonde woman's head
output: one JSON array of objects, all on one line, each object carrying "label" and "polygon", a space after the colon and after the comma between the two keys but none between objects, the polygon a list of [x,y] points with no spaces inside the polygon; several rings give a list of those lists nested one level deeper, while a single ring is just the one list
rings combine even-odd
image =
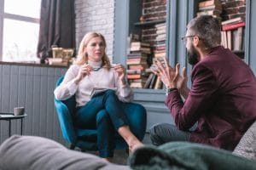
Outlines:
[{"label": "white-painted brick wall behind the blonde woman's head", "polygon": [[75,0],[76,46],[88,31],[102,33],[107,41],[107,54],[113,57],[114,0]]}]

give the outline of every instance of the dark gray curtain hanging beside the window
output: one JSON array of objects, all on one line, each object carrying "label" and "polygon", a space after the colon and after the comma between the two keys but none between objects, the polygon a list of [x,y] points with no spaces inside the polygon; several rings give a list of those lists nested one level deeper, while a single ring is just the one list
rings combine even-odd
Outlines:
[{"label": "dark gray curtain hanging beside the window", "polygon": [[38,58],[41,63],[51,57],[50,47],[75,48],[73,0],[42,0]]}]

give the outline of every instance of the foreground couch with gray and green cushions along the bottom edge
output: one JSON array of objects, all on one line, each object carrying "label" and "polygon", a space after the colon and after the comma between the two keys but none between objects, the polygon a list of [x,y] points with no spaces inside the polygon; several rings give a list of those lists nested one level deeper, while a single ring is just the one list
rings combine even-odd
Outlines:
[{"label": "foreground couch with gray and green cushions along the bottom edge", "polygon": [[129,166],[115,165],[98,156],[68,150],[50,139],[14,135],[0,145],[1,170],[83,169],[232,169],[256,170],[256,122],[234,153],[204,144],[172,142],[135,150]]}]

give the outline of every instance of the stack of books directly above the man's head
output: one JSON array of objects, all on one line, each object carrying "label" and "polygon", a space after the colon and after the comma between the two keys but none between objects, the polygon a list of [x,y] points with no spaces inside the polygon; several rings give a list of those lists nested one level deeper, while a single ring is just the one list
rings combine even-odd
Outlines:
[{"label": "stack of books directly above the man's head", "polygon": [[222,13],[222,4],[219,2],[219,0],[202,1],[198,4],[198,8],[199,12],[196,13],[197,16],[207,14],[221,20],[220,14]]}]

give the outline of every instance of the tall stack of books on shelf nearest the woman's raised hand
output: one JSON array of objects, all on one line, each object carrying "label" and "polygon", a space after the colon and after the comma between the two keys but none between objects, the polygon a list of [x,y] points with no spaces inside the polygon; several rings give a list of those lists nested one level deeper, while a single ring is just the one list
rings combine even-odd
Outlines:
[{"label": "tall stack of books on shelf nearest the woman's raised hand", "polygon": [[126,64],[127,79],[131,88],[143,88],[148,73],[148,55],[151,54],[151,47],[148,42],[131,42],[130,53],[127,54]]}]

